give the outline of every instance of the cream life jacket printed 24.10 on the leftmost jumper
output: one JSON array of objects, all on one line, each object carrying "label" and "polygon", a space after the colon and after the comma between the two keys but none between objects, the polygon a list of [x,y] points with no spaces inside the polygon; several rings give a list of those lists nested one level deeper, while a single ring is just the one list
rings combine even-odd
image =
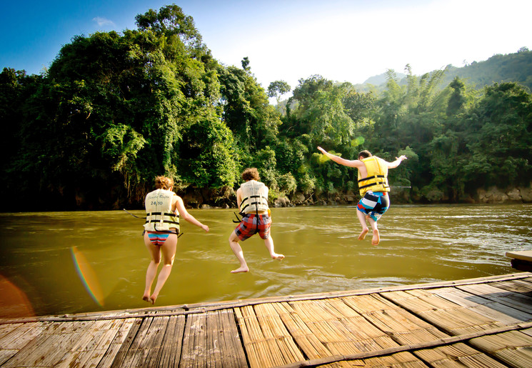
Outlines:
[{"label": "cream life jacket printed 24.10 on the leftmost jumper", "polygon": [[172,212],[172,199],[176,194],[166,189],[156,189],[146,194],[146,232],[179,232],[179,212]]}]

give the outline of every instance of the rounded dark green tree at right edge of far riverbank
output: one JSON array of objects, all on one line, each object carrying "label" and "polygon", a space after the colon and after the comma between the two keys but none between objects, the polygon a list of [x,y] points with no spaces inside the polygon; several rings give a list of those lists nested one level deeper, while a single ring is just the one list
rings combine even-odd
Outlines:
[{"label": "rounded dark green tree at right edge of far riverbank", "polygon": [[469,189],[526,185],[532,178],[532,96],[516,83],[486,87],[468,116],[462,176]]}]

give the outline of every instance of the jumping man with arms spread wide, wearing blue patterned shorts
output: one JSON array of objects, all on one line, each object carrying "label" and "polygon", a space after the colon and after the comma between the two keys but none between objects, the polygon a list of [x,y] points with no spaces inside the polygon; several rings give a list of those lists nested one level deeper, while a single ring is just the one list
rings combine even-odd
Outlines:
[{"label": "jumping man with arms spread wide, wearing blue patterned shorts", "polygon": [[388,169],[394,169],[399,166],[406,159],[406,156],[401,155],[396,157],[396,161],[388,162],[380,157],[372,156],[369,151],[364,150],[358,154],[358,160],[346,160],[340,156],[329,154],[321,147],[318,147],[318,149],[337,164],[358,169],[358,189],[362,196],[356,206],[356,216],[362,225],[362,232],[358,235],[358,240],[363,240],[368,234],[367,217],[373,231],[371,244],[377,245],[381,241],[381,237],[378,234],[377,221],[390,207]]}]

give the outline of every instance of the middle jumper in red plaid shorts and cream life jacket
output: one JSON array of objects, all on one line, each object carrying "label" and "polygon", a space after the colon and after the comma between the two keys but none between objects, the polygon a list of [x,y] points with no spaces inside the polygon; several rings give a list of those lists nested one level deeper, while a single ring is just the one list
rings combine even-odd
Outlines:
[{"label": "middle jumper in red plaid shorts and cream life jacket", "polygon": [[244,241],[254,234],[259,234],[259,237],[264,239],[264,245],[272,259],[281,260],[284,258],[283,254],[278,254],[273,249],[273,239],[270,235],[271,217],[268,207],[268,187],[259,181],[261,179],[259,171],[254,167],[245,169],[242,173],[242,179],[245,182],[236,191],[236,204],[239,206],[242,219],[229,237],[229,246],[240,262],[240,267],[231,271],[233,274],[249,271],[239,241]]}]

